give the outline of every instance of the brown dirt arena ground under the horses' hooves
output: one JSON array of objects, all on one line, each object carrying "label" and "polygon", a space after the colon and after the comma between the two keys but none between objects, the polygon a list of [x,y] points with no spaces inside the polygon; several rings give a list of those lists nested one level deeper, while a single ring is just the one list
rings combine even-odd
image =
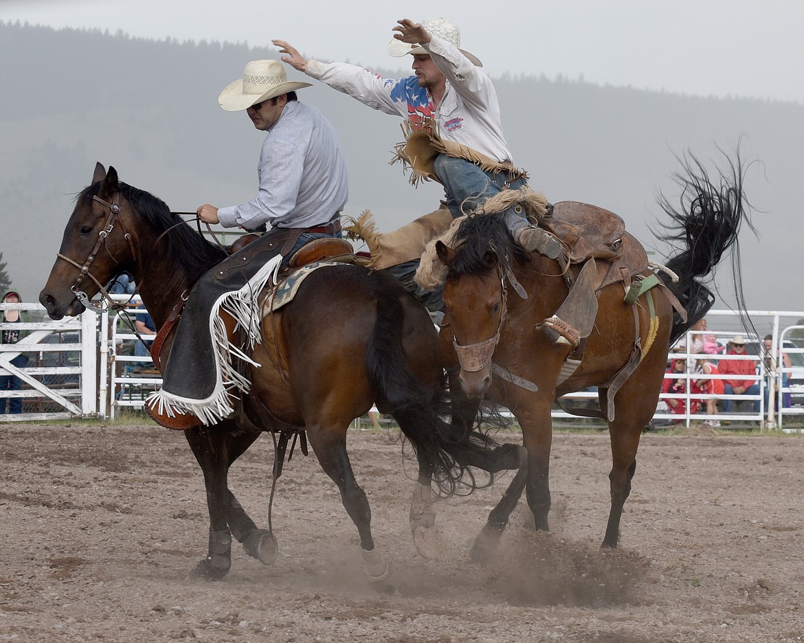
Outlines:
[{"label": "brown dirt arena ground under the horses' hooves", "polygon": [[[646,434],[617,551],[607,434],[557,433],[551,534],[520,506],[493,563],[469,551],[504,477],[439,505],[418,558],[413,465],[394,432],[350,434],[394,593],[367,586],[357,534],[313,454],[277,484],[277,562],[235,543],[220,583],[185,583],[207,508],[183,435],[153,425],[0,425],[0,641],[802,641],[804,438]],[[511,439],[515,439],[511,436]],[[271,441],[230,486],[267,526]]]}]

